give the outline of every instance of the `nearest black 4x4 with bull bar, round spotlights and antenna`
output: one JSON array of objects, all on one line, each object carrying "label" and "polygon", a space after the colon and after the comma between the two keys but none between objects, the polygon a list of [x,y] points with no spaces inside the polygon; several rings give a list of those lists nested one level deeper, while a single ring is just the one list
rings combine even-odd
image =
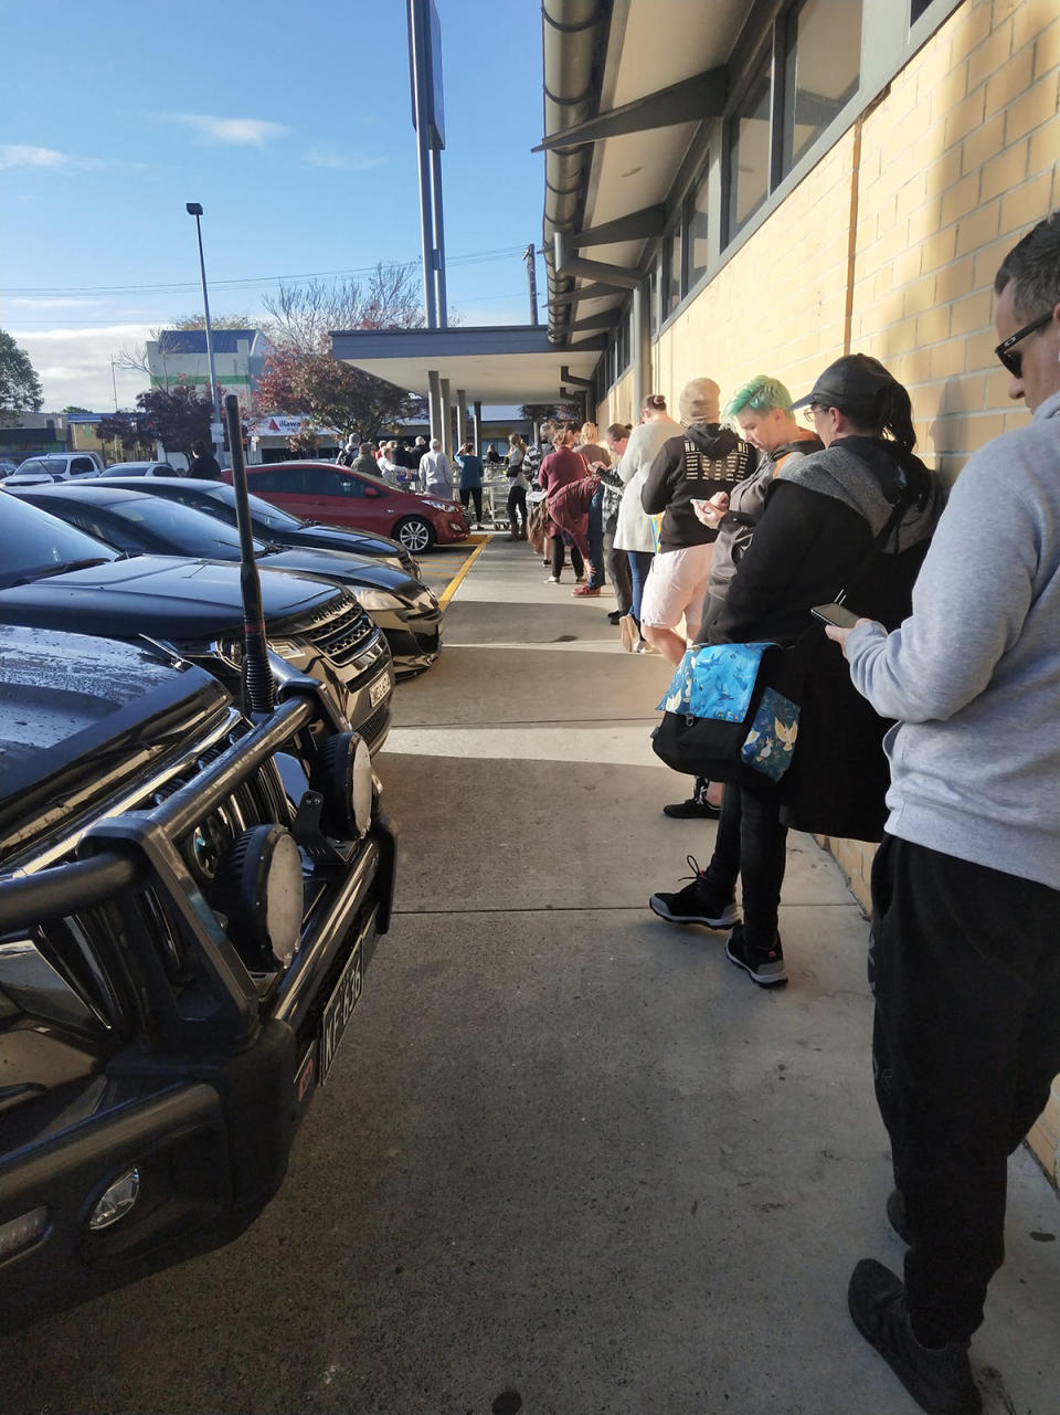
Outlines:
[{"label": "nearest black 4x4 with bull bar, round spotlights and antenna", "polygon": [[[296,736],[320,743],[313,790]],[[167,651],[3,627],[0,758],[14,1329],[229,1241],[280,1189],[389,927],[395,843],[313,679],[252,723]]]}]

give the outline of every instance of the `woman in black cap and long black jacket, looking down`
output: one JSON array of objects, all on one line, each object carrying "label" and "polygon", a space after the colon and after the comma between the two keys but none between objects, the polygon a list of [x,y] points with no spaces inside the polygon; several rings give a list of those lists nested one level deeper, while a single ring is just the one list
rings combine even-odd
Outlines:
[{"label": "woman in black cap and long black jacket, looking down", "polygon": [[[913,582],[941,509],[938,484],[913,456],[906,389],[875,358],[831,364],[808,403],[824,450],[781,468],[754,539],[709,630],[712,644],[771,641],[801,652],[798,737],[791,767],[773,785],[726,787],[710,865],[652,907],[672,923],[733,924],[727,958],[759,985],[787,981],[777,932],[788,826],[879,841],[887,766],[877,717],[829,655],[810,608],[851,591],[858,614],[896,628],[910,613]],[[896,507],[897,524],[892,522]],[[887,528],[886,543],[877,545]],[[743,923],[734,921],[736,877]]]}]

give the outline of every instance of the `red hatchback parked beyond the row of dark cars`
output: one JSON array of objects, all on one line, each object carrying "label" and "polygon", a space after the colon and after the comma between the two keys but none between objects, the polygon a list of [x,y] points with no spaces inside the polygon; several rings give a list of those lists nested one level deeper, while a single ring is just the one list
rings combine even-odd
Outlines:
[{"label": "red hatchback parked beyond the row of dark cars", "polygon": [[[232,480],[231,471],[221,475]],[[467,516],[459,501],[399,491],[381,477],[367,477],[334,461],[270,461],[248,467],[246,485],[294,516],[375,531],[401,541],[412,555],[467,539]]]}]

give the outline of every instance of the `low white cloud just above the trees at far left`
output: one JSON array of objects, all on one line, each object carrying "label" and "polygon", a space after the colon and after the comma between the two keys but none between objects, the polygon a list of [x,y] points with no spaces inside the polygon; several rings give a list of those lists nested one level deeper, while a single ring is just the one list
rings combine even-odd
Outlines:
[{"label": "low white cloud just above the trees at far left", "polygon": [[91,408],[112,412],[115,385],[122,408],[134,408],[136,395],[147,388],[146,374],[115,369],[110,359],[119,350],[144,344],[150,324],[109,324],[91,330],[11,330],[11,338],[30,355],[44,389],[44,412],[61,408]]}]

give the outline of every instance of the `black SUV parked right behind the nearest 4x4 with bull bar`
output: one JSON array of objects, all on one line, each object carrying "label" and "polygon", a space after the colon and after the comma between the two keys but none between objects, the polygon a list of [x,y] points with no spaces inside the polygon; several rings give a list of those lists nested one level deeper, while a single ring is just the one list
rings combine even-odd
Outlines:
[{"label": "black SUV parked right behind the nearest 4x4 with bull bar", "polygon": [[[0,491],[0,623],[160,641],[239,695],[239,566],[129,559],[8,491]],[[376,753],[391,726],[386,640],[340,584],[286,570],[262,570],[260,582],[273,674],[316,678],[337,726],[359,732]]]}]

